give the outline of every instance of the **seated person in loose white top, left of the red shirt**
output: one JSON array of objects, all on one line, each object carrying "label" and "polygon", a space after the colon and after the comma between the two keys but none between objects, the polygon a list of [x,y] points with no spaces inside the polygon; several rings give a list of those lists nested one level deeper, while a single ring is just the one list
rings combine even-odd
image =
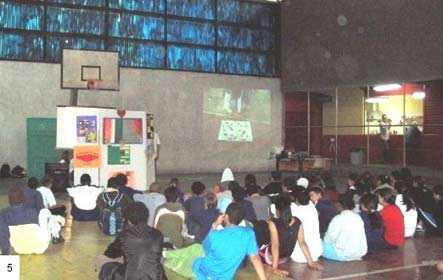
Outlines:
[{"label": "seated person in loose white top, left of the red shirt", "polygon": [[335,216],[323,240],[323,257],[335,261],[355,261],[366,255],[368,245],[365,226],[360,215],[354,213],[355,203],[349,194],[338,197]]}]

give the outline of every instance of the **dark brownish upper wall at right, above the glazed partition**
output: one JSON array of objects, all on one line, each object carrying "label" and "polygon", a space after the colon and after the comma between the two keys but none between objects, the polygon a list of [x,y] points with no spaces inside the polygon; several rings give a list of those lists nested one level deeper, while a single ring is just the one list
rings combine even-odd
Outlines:
[{"label": "dark brownish upper wall at right, above the glazed partition", "polygon": [[443,77],[441,0],[284,0],[282,91]]}]

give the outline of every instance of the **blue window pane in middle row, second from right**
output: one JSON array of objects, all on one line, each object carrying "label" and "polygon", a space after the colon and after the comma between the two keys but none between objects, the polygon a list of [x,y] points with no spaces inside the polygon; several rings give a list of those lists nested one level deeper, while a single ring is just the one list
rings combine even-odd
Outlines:
[{"label": "blue window pane in middle row, second from right", "polygon": [[214,45],[215,28],[211,23],[168,20],[168,41],[200,45]]}]

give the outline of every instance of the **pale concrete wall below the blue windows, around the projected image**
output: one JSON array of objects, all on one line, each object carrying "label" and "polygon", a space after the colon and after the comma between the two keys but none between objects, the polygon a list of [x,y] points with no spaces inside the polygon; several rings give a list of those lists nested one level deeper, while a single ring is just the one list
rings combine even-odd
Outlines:
[{"label": "pale concrete wall below the blue windows, around the projected image", "polygon": [[[266,170],[281,145],[280,80],[192,72],[121,68],[120,92],[80,91],[79,105],[123,107],[155,115],[161,139],[160,173]],[[67,105],[60,65],[0,61],[0,163],[26,165],[26,118],[55,117]],[[272,122],[253,143],[214,143],[203,133],[203,94],[209,88],[271,92]]]}]

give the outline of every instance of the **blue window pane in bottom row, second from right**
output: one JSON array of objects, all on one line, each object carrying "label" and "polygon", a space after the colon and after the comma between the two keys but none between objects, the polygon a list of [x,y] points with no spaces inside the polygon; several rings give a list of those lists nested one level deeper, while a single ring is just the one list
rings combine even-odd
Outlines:
[{"label": "blue window pane in bottom row, second from right", "polygon": [[168,46],[168,68],[215,72],[215,51],[170,45]]}]

